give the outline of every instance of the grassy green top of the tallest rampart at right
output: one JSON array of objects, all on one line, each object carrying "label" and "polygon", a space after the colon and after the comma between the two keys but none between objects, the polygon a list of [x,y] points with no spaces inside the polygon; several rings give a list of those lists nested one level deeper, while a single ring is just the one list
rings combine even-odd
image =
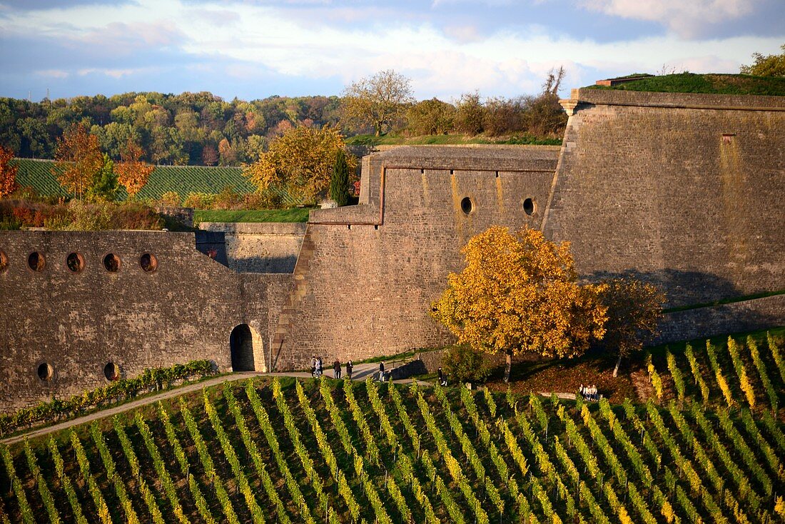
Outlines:
[{"label": "grassy green top of the tallest rampart at right", "polygon": [[714,93],[785,97],[785,78],[750,75],[678,75],[652,76],[617,86],[586,86],[585,89],[655,91],[663,93]]}]

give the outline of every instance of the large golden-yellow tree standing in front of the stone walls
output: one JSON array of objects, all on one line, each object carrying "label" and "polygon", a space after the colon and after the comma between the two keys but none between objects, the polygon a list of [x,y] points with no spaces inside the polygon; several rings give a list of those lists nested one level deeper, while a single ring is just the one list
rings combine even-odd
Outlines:
[{"label": "large golden-yellow tree standing in front of the stone walls", "polygon": [[450,273],[431,314],[458,344],[507,357],[576,357],[605,333],[607,308],[598,288],[578,284],[569,243],[555,244],[536,229],[511,233],[495,226],[462,249],[466,268]]}]

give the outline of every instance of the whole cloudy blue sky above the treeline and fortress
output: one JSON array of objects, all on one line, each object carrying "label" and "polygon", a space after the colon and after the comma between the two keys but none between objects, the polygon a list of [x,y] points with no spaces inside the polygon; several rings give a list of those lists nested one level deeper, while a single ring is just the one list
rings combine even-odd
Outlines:
[{"label": "whole cloudy blue sky above the treeline and fortress", "polygon": [[560,94],[781,53],[785,0],[0,0],[0,97],[340,95],[393,69],[414,97]]}]

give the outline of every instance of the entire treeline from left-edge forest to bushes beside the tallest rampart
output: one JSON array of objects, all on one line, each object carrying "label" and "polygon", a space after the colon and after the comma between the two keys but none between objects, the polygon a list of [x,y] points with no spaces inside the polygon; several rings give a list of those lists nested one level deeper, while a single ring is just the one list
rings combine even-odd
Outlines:
[{"label": "entire treeline from left-edge forest to bushes beside the tallest rampart", "polygon": [[[537,97],[483,99],[466,93],[455,104],[398,104],[387,131],[429,134],[533,134],[557,137],[566,115],[548,90]],[[224,101],[212,93],[123,93],[31,102],[0,98],[0,145],[21,158],[51,159],[57,139],[81,123],[100,149],[118,160],[129,140],[154,164],[239,166],[253,163],[269,142],[297,126],[338,126],[351,137],[373,126],[351,118],[341,97],[268,97]]]}]

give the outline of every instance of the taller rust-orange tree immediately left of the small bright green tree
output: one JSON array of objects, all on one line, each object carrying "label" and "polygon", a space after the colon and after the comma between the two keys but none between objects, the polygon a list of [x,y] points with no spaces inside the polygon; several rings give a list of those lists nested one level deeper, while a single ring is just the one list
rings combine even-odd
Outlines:
[{"label": "taller rust-orange tree immediately left of the small bright green tree", "polygon": [[80,200],[90,189],[96,174],[104,166],[98,137],[89,134],[81,123],[71,126],[57,139],[52,174],[65,189]]}]

